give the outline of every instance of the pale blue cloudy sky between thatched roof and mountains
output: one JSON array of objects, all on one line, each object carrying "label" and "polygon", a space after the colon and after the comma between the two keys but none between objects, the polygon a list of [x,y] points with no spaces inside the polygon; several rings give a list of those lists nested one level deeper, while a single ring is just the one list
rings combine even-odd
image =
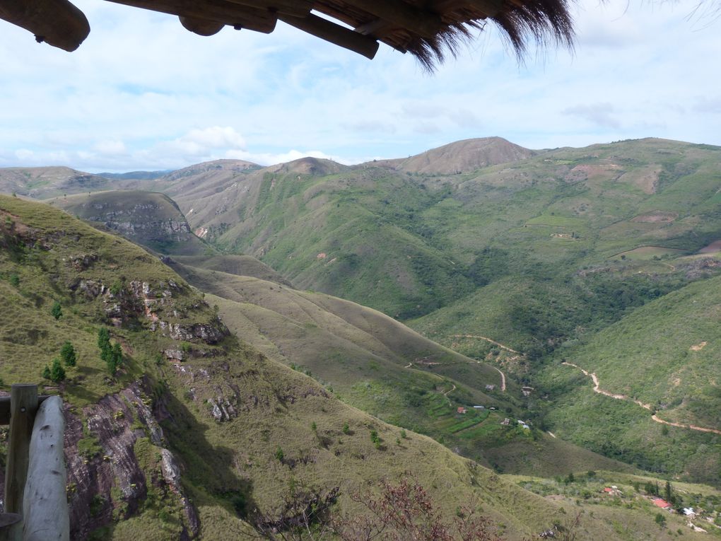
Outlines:
[{"label": "pale blue cloudy sky between thatched roof and mountains", "polygon": [[531,48],[519,63],[489,24],[433,74],[386,45],[369,61],[282,22],[203,38],[177,17],[75,4],[92,30],[74,53],[0,20],[0,167],[353,164],[487,136],[721,145],[715,2],[580,0],[572,51]]}]

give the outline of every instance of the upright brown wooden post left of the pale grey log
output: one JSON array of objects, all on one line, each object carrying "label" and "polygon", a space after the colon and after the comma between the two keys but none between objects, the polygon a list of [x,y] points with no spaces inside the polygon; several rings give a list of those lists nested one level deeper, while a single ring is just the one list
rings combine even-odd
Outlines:
[{"label": "upright brown wooden post left of the pale grey log", "polygon": [[13,384],[10,390],[10,441],[5,471],[5,512],[22,513],[32,424],[37,411],[37,385]]}]

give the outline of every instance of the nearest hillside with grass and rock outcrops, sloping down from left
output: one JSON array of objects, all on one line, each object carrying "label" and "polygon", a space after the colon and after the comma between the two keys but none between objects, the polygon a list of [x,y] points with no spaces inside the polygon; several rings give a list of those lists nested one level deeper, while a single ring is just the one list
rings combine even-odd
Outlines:
[{"label": "nearest hillside with grass and rock outcrops, sloping down from left", "polygon": [[[338,486],[351,509],[355,485],[408,471],[448,511],[478,493],[511,539],[563,520],[561,505],[425,436],[394,444],[397,428],[239,343],[138,247],[49,206],[0,196],[0,209],[3,384],[40,381],[68,337],[78,351],[66,381],[45,387],[68,403],[74,538],[236,538],[250,505],[275,512],[289,475],[321,493]],[[104,324],[123,351],[112,377],[97,351]]]}]

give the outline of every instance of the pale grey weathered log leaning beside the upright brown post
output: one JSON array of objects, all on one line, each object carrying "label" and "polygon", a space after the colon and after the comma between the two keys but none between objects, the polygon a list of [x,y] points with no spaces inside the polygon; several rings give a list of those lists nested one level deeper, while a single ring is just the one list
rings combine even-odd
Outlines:
[{"label": "pale grey weathered log leaning beside the upright brown post", "polygon": [[66,496],[63,400],[45,400],[35,415],[30,465],[25,485],[23,541],[68,541],[70,513]]}]

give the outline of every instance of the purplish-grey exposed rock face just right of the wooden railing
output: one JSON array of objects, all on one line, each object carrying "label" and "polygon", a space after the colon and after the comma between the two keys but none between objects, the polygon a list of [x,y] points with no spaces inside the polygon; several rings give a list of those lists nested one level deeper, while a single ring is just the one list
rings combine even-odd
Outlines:
[{"label": "purplish-grey exposed rock face just right of the wooden railing", "polygon": [[[185,537],[198,535],[198,515],[180,485],[180,467],[172,452],[164,447],[158,414],[149,406],[148,384],[138,381],[86,408],[85,427],[79,415],[66,410],[65,449],[73,539],[85,539],[89,532],[112,519],[131,516],[146,498],[151,484],[177,498],[185,515]],[[97,439],[97,447],[88,451],[87,440],[92,438]],[[136,443],[143,438],[159,449],[161,475],[149,477],[138,462]],[[86,439],[82,452],[81,439]]]}]

